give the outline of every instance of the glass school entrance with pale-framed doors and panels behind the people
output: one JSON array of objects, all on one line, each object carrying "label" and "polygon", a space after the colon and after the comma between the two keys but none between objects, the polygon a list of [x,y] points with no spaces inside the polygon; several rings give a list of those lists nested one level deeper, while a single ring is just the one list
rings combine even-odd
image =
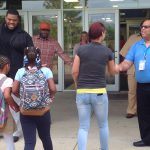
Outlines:
[{"label": "glass school entrance with pale-framed doors and panels behind the people", "polygon": [[[6,14],[5,10],[0,11],[0,22],[3,21]],[[39,32],[39,23],[41,21],[49,21],[52,26],[50,31],[51,37],[58,40],[65,53],[73,59],[73,46],[79,41],[79,34],[75,34],[79,30],[88,31],[89,25],[95,21],[105,21],[105,25],[109,30],[109,35],[103,44],[110,46],[114,52],[115,61],[118,62],[118,50],[119,44],[117,41],[118,30],[118,10],[99,10],[99,11],[85,11],[81,16],[80,12],[72,14],[68,18],[69,12],[65,12],[62,16],[60,10],[48,10],[48,11],[19,11],[21,15],[21,26],[31,36],[37,35]],[[78,20],[73,23],[73,18],[79,16]],[[69,20],[70,19],[70,20]],[[78,27],[77,27],[78,26]],[[82,29],[80,29],[82,28]],[[113,46],[113,47],[111,47]],[[53,74],[55,83],[57,84],[57,90],[74,90],[74,83],[71,76],[71,66],[64,65],[63,61],[55,56],[53,60]],[[107,73],[107,88],[109,91],[119,90],[119,76],[111,76]]]}]

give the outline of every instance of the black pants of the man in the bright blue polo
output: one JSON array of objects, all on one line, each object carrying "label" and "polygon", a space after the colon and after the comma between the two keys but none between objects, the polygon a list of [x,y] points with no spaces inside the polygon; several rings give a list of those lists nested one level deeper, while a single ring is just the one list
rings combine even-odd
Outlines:
[{"label": "black pants of the man in the bright blue polo", "polygon": [[141,139],[150,145],[150,83],[137,84],[137,116]]}]

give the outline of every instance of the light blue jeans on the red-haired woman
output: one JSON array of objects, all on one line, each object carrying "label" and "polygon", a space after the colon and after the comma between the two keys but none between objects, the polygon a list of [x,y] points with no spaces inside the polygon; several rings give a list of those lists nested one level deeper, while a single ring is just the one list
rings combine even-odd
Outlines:
[{"label": "light blue jeans on the red-haired woman", "polygon": [[77,94],[79,116],[78,150],[86,150],[91,114],[94,112],[99,126],[101,150],[108,150],[108,96],[107,94]]}]

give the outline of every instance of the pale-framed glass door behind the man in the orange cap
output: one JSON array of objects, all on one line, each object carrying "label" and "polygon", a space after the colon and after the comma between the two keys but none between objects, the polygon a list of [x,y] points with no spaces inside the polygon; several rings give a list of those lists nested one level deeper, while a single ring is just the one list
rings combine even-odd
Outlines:
[{"label": "pale-framed glass door behind the man in the orange cap", "polygon": [[[50,37],[57,40],[62,46],[62,25],[61,14],[59,11],[38,11],[29,12],[29,33],[30,35],[39,34],[39,23],[41,21],[47,21],[51,24]],[[52,69],[55,83],[57,84],[57,90],[62,91],[62,60],[58,56],[53,58],[53,69]]]}]

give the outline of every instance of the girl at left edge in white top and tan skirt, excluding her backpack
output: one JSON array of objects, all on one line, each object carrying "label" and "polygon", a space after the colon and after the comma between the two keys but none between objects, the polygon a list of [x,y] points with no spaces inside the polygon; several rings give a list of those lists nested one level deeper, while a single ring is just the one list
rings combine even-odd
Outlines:
[{"label": "girl at left edge in white top and tan skirt, excluding her backpack", "polygon": [[3,80],[3,83],[0,88],[3,92],[8,111],[7,123],[4,128],[0,129],[0,133],[3,134],[4,136],[7,150],[15,150],[13,142],[13,132],[16,130],[16,125],[8,107],[10,106],[13,110],[18,112],[19,106],[15,103],[15,101],[11,96],[13,80],[11,78],[6,77],[6,74],[9,72],[9,70],[10,70],[9,59],[5,56],[0,55],[0,80],[3,80],[3,78],[5,77],[5,80]]}]

